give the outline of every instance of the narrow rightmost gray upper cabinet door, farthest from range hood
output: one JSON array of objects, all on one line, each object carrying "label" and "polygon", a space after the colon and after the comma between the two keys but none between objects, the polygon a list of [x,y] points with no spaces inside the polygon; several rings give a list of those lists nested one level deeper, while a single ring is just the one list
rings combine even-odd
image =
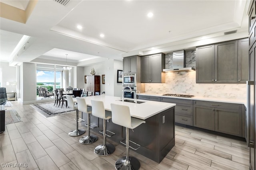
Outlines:
[{"label": "narrow rightmost gray upper cabinet door, farthest from range hood", "polygon": [[249,79],[249,40],[238,39],[238,82],[246,83]]}]

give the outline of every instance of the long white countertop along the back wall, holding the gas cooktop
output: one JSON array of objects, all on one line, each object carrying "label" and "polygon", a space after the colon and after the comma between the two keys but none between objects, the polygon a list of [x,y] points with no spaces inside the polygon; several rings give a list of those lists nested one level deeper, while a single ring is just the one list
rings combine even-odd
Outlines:
[{"label": "long white countertop along the back wall, holding the gas cooktop", "polygon": [[140,95],[157,96],[157,97],[163,97],[163,98],[176,98],[176,99],[187,99],[187,100],[202,100],[202,101],[210,101],[210,102],[244,104],[246,106],[246,98],[245,99],[227,99],[227,98],[214,98],[214,97],[202,97],[202,96],[194,96],[192,98],[182,98],[182,97],[174,97],[174,96],[162,96],[163,94],[153,94],[153,93],[141,93]]}]

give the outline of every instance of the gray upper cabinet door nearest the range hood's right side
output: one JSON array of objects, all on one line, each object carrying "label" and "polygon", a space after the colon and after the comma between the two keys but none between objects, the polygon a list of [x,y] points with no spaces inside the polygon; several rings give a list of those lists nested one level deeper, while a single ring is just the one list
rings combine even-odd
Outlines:
[{"label": "gray upper cabinet door nearest the range hood's right side", "polygon": [[214,45],[196,48],[196,82],[214,81]]}]

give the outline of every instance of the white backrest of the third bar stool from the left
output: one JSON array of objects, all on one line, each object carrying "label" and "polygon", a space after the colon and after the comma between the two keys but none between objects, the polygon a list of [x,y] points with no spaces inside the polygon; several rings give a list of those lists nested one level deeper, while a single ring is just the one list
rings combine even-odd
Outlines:
[{"label": "white backrest of the third bar stool from the left", "polygon": [[92,115],[101,119],[107,119],[104,104],[102,101],[91,100],[92,102]]}]

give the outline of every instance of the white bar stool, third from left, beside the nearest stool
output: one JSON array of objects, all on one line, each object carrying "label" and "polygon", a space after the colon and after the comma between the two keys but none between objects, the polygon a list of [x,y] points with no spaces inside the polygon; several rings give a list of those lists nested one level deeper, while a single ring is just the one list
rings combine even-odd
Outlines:
[{"label": "white bar stool, third from left, beside the nearest stool", "polygon": [[94,149],[94,153],[99,156],[107,156],[112,154],[116,148],[111,143],[106,144],[106,120],[110,119],[111,113],[105,112],[104,104],[102,101],[91,100],[92,102],[92,115],[103,119],[103,145],[98,145]]}]

